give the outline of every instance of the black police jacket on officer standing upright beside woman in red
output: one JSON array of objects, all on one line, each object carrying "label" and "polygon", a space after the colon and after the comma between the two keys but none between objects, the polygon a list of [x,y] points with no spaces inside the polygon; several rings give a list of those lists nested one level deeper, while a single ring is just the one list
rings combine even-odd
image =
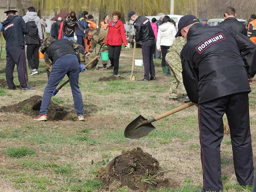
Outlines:
[{"label": "black police jacket on officer standing upright beside woman in red", "polygon": [[154,41],[155,35],[147,17],[139,16],[133,23],[136,42]]}]

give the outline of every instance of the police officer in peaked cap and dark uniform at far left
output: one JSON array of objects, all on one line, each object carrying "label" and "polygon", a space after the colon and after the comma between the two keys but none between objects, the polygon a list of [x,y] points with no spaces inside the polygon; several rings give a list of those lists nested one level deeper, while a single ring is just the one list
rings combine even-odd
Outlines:
[{"label": "police officer in peaked cap and dark uniform at far left", "polygon": [[16,89],[13,83],[13,70],[17,65],[18,78],[22,90],[31,90],[26,80],[26,57],[25,38],[29,32],[28,25],[22,17],[16,15],[16,10],[9,10],[6,13],[6,20],[3,21],[3,35],[6,40],[6,81],[9,89]]}]

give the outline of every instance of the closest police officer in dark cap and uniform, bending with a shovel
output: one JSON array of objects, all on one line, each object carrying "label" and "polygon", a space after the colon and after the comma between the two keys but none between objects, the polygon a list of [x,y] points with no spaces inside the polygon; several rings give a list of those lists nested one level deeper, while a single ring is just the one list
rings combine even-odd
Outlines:
[{"label": "closest police officer in dark cap and uniform, bending with a shovel", "polygon": [[256,73],[256,46],[229,26],[204,27],[194,15],[179,20],[175,37],[187,43],[180,52],[183,84],[198,105],[203,189],[221,191],[220,143],[226,113],[234,167],[240,185],[252,185],[250,84]]}]

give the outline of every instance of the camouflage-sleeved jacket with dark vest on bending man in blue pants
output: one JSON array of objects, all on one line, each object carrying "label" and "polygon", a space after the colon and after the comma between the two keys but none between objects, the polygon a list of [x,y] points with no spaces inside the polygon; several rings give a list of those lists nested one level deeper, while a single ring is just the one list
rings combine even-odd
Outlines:
[{"label": "camouflage-sleeved jacket with dark vest on bending man in blue pants", "polygon": [[44,60],[51,60],[54,63],[60,56],[75,54],[77,55],[79,63],[85,62],[84,47],[76,44],[71,39],[57,39],[48,38],[44,41],[41,52],[47,53],[47,58]]}]

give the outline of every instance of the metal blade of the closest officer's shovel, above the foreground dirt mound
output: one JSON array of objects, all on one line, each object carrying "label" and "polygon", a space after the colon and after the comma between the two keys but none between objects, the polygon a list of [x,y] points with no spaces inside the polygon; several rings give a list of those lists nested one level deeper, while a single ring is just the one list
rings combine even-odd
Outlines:
[{"label": "metal blade of the closest officer's shovel, above the foreground dirt mound", "polygon": [[138,116],[124,130],[124,137],[130,139],[139,139],[146,136],[149,132],[156,129],[154,125],[148,123],[143,116]]}]

